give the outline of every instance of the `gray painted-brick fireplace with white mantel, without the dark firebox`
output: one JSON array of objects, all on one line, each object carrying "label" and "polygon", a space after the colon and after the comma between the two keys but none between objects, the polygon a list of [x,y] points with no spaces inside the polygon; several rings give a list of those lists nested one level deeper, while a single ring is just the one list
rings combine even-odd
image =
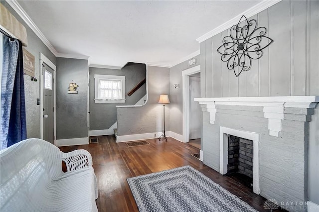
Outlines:
[{"label": "gray painted-brick fireplace with white mantel, without the dark firebox", "polygon": [[203,111],[203,163],[227,173],[228,135],[253,141],[253,191],[307,202],[309,123],[319,96],[195,98]]}]

